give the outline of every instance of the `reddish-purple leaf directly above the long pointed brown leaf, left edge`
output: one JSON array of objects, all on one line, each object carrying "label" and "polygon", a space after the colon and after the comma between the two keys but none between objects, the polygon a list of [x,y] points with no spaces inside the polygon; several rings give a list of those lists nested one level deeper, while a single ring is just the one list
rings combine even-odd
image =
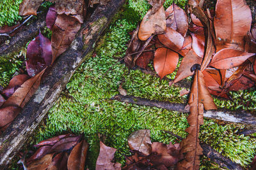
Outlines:
[{"label": "reddish-purple leaf directly above the long pointed brown leaf, left edge", "polygon": [[17,76],[14,76],[10,81],[9,85],[3,89],[3,92],[1,94],[3,94],[4,97],[9,98],[10,96],[12,96],[15,90],[17,90],[20,85],[22,85],[28,79],[29,76],[27,74],[19,74]]}]

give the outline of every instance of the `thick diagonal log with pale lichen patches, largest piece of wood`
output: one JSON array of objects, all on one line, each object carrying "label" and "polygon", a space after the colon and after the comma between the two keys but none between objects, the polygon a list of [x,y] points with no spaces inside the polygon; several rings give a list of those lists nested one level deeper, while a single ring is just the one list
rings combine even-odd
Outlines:
[{"label": "thick diagonal log with pale lichen patches, largest piece of wood", "polygon": [[97,6],[92,16],[82,25],[76,38],[42,77],[40,87],[22,112],[0,136],[0,169],[5,169],[26,142],[38,124],[60,96],[76,69],[90,57],[95,42],[106,29],[124,0],[111,0],[107,5]]}]

